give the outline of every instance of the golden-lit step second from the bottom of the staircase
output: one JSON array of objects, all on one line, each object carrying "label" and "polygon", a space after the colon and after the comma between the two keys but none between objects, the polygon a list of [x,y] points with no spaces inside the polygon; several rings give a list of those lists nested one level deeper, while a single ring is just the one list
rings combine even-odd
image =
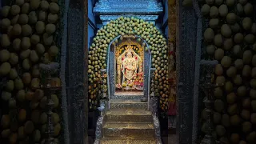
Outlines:
[{"label": "golden-lit step second from the bottom of the staircase", "polygon": [[106,122],[103,137],[154,138],[152,122]]}]

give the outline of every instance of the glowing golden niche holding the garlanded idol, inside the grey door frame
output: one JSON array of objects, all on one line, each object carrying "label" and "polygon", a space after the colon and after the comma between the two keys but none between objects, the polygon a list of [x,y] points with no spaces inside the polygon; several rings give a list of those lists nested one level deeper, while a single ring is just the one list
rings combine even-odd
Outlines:
[{"label": "glowing golden niche holding the garlanded idol, inside the grey door frame", "polygon": [[134,42],[130,38],[123,39],[115,49],[114,59],[115,94],[143,93],[144,46],[142,43]]}]

